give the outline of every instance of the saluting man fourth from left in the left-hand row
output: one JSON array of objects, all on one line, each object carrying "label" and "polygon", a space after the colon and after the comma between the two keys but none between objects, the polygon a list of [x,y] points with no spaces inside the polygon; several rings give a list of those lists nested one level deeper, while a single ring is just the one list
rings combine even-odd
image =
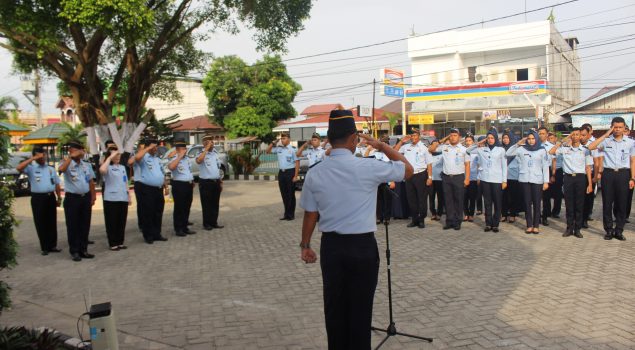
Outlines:
[{"label": "saluting man fourth from left in the left-hand row", "polygon": [[167,195],[168,188],[163,168],[159,163],[158,143],[159,141],[155,138],[146,139],[144,147],[139,147],[133,158],[139,167],[139,173],[135,172],[135,184],[139,183],[137,210],[143,213],[143,220],[139,224],[143,239],[147,244],[168,240],[161,235],[163,209],[165,208],[163,196]]}]

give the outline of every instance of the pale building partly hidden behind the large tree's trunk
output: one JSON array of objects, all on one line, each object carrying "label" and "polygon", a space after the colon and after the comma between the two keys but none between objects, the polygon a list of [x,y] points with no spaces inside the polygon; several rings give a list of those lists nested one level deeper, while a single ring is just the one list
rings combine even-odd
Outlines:
[{"label": "pale building partly hidden behind the large tree's trunk", "polygon": [[176,89],[183,95],[181,102],[166,102],[158,98],[150,97],[146,102],[146,108],[154,108],[157,119],[165,119],[174,114],[179,114],[180,119],[193,118],[209,114],[207,97],[203,90],[203,79],[193,77],[181,77],[176,80]]}]

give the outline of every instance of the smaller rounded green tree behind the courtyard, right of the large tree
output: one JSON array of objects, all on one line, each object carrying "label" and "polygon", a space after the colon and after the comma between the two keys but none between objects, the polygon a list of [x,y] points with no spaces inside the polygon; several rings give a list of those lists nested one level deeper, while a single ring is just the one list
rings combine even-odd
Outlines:
[{"label": "smaller rounded green tree behind the courtyard, right of the large tree", "polygon": [[230,137],[270,136],[276,121],[295,115],[291,102],[301,88],[280,56],[266,55],[252,66],[236,56],[221,57],[203,79],[212,118]]}]

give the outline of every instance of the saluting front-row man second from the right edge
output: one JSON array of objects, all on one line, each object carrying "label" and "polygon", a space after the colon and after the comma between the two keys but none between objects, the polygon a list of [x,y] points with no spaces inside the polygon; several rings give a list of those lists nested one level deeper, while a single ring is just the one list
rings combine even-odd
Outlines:
[{"label": "saluting front-row man second from the right edge", "polygon": [[[570,143],[568,142],[570,140]],[[561,156],[564,170],[564,200],[567,210],[567,228],[563,237],[574,235],[582,238],[584,222],[584,198],[593,191],[591,186],[591,152],[580,143],[580,128],[573,128],[563,142],[557,142],[549,151]]]}]

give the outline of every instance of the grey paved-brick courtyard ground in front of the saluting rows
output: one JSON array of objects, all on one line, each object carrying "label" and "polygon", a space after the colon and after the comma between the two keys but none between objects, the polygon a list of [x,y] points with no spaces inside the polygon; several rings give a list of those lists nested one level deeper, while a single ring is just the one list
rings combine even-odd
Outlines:
[{"label": "grey paved-brick courtyard ground in front of the saluting rows", "polygon": [[[198,190],[195,190],[197,193]],[[299,198],[299,193],[297,193]],[[299,259],[302,213],[279,221],[275,182],[227,182],[222,230],[201,229],[198,196],[191,221],[198,234],[176,237],[166,205],[168,242],[143,243],[131,207],[129,249],[107,249],[103,212],[93,210],[93,260],[68,256],[63,212],[62,254],[41,256],[29,198],[15,203],[19,265],[1,272],[14,307],[0,324],[49,326],[77,336],[89,303],[111,301],[122,349],[324,349],[319,264]],[[635,348],[635,225],[626,242],[604,241],[596,217],[584,238],[562,238],[563,219],[540,235],[521,222],[482,230],[482,217],[461,231],[438,222],[408,229],[390,225],[395,321],[399,331],[432,344],[392,337],[385,349],[633,349]],[[635,222],[633,216],[631,220]],[[383,227],[374,324],[388,322]],[[319,247],[319,234],[313,244]],[[83,337],[88,337],[87,326]],[[373,336],[374,344],[383,335]]]}]

